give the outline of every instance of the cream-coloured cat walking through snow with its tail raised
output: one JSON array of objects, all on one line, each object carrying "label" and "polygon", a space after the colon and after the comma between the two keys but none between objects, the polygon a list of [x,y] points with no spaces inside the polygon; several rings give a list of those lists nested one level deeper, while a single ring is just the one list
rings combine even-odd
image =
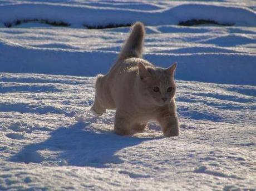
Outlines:
[{"label": "cream-coloured cat walking through snow with its tail raised", "polygon": [[144,36],[144,24],[136,22],[114,66],[96,78],[91,112],[100,116],[106,109],[116,109],[114,130],[119,135],[143,132],[149,120],[156,120],[165,137],[178,136],[177,63],[160,68],[142,59]]}]

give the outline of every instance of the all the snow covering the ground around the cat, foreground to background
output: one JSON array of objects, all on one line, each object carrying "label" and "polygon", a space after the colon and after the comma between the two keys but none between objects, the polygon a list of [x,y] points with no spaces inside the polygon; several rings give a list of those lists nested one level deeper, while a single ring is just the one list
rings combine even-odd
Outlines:
[{"label": "all the snow covering the ground around the cat, foreground to background", "polygon": [[[0,190],[255,190],[255,10],[254,1],[0,1]],[[71,26],[4,26],[17,19]],[[176,25],[187,19],[235,25]],[[83,24],[137,20],[145,58],[178,62],[179,137],[155,122],[121,137],[114,110],[90,111],[95,76],[129,27]]]}]

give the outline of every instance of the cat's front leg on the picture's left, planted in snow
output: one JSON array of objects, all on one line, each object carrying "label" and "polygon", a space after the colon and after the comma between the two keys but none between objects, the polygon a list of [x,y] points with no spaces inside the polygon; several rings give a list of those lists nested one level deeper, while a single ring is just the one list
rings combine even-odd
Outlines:
[{"label": "cat's front leg on the picture's left, planted in snow", "polygon": [[131,129],[131,122],[129,115],[116,110],[114,130],[119,135],[132,135],[134,134]]}]

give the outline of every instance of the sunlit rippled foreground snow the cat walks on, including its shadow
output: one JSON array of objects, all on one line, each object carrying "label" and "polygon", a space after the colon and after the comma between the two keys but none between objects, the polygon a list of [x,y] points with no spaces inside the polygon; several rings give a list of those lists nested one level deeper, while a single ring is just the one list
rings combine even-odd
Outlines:
[{"label": "sunlit rippled foreground snow the cat walks on, including its shadow", "polygon": [[254,86],[177,81],[179,137],[120,137],[114,111],[90,113],[94,80],[2,73],[1,189],[254,188]]}]

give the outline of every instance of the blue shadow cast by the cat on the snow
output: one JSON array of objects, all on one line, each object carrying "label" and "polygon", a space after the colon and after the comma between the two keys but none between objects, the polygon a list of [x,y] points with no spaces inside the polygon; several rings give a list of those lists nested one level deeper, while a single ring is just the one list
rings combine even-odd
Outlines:
[{"label": "blue shadow cast by the cat on the snow", "polygon": [[[75,165],[106,167],[122,163],[116,154],[146,140],[158,138],[122,137],[113,131],[95,132],[90,123],[76,123],[59,127],[44,142],[26,145],[11,157],[12,162],[41,163],[46,165]],[[160,137],[159,137],[160,138]]]}]

